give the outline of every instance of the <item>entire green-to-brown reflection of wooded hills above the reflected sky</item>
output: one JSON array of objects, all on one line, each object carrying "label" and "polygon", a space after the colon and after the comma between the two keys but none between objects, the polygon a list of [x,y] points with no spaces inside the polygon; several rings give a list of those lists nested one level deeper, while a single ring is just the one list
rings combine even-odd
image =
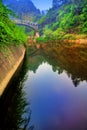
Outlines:
[{"label": "entire green-to-brown reflection of wooded hills above the reflected sky", "polygon": [[58,74],[61,74],[63,71],[66,71],[68,77],[72,79],[74,86],[77,87],[81,81],[87,81],[87,57],[80,55],[83,51],[86,53],[86,49],[73,50],[71,52],[66,50],[63,53],[61,48],[55,46],[53,48],[48,47],[36,52],[34,56],[30,56],[28,67],[29,70],[36,72],[42,62],[48,62],[52,65],[54,72],[57,71]]}]

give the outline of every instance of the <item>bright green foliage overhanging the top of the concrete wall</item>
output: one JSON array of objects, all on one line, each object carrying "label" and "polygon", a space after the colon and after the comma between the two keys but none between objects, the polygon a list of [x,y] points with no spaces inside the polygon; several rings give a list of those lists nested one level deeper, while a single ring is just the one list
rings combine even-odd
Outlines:
[{"label": "bright green foliage overhanging the top of the concrete wall", "polygon": [[26,41],[26,35],[21,27],[16,26],[10,19],[12,12],[0,1],[0,46],[21,44]]}]

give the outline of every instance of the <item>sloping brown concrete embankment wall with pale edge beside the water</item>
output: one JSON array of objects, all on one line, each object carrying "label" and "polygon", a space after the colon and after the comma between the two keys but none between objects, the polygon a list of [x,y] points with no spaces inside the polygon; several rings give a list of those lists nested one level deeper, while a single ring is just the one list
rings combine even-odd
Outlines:
[{"label": "sloping brown concrete embankment wall with pale edge beside the water", "polygon": [[24,59],[24,46],[11,46],[0,52],[0,96]]}]

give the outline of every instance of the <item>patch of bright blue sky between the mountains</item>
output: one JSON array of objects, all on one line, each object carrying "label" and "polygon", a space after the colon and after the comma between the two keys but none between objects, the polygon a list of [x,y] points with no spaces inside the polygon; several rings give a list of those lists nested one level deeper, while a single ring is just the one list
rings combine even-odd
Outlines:
[{"label": "patch of bright blue sky between the mountains", "polygon": [[47,10],[52,7],[52,0],[31,0],[40,10]]}]

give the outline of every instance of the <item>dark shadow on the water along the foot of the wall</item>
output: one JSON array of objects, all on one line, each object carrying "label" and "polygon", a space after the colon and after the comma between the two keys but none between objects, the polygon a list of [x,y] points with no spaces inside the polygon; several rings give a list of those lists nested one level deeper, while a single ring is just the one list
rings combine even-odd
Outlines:
[{"label": "dark shadow on the water along the foot of the wall", "polygon": [[[0,130],[33,130],[29,125],[31,110],[22,91],[26,80],[27,56],[23,66],[15,73],[3,95],[0,97]],[[27,110],[28,106],[28,110]],[[25,113],[28,113],[25,117]]]}]

